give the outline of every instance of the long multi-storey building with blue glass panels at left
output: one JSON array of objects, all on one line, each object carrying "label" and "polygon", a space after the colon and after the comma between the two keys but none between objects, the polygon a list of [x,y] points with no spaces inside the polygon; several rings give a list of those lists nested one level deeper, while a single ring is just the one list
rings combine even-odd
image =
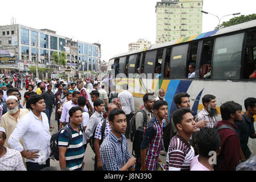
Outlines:
[{"label": "long multi-storey building with blue glass panels at left", "polygon": [[[60,66],[53,62],[52,55],[53,52],[60,54],[64,51],[67,55],[65,71],[97,71],[100,67],[97,65],[100,52],[98,45],[100,44],[74,41],[48,29],[38,30],[21,24],[0,26],[0,60],[1,57],[2,60],[15,57],[13,62],[11,58],[10,61],[0,61],[0,68],[24,71],[31,65],[36,65],[38,61],[39,67],[55,68],[60,71]],[[95,64],[83,64],[86,60],[92,60]]]}]

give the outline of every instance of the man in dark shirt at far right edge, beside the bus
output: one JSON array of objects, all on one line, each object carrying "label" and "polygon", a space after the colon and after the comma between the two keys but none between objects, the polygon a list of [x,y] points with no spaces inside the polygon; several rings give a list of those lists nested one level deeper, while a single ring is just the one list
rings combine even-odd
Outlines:
[{"label": "man in dark shirt at far right edge, beside the bus", "polygon": [[[237,134],[240,138],[240,145],[242,154],[246,159],[250,158],[251,151],[247,146],[248,139],[256,138],[255,129],[254,129],[254,115],[256,114],[256,98],[249,97],[245,100],[245,109],[246,112],[243,114],[242,122],[235,122],[237,126]],[[241,155],[241,154],[240,154]],[[243,155],[241,156],[242,160]]]}]

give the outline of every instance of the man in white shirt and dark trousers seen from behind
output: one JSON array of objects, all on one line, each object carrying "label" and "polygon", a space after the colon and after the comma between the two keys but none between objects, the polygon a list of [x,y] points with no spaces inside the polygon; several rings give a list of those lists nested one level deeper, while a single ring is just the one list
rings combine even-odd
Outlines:
[{"label": "man in white shirt and dark trousers seen from behind", "polygon": [[134,109],[134,99],[133,94],[131,94],[128,89],[127,84],[123,84],[123,92],[118,94],[118,100],[122,106],[122,110],[125,111],[126,114],[126,121],[127,121],[127,130],[125,132],[125,137],[130,138],[130,120],[135,114]]}]

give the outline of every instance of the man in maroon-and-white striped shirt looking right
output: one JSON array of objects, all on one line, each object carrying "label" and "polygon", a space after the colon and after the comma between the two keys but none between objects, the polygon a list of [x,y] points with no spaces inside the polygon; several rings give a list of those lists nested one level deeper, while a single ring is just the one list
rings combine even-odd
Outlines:
[{"label": "man in maroon-and-white striped shirt looking right", "polygon": [[188,142],[197,130],[192,111],[181,107],[172,114],[177,134],[171,139],[168,148],[166,166],[168,171],[189,171],[195,151]]}]

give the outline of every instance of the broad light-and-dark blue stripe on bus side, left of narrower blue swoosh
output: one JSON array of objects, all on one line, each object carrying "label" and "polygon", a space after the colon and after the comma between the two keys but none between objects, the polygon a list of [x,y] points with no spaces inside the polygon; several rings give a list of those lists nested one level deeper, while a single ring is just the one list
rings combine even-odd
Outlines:
[{"label": "broad light-and-dark blue stripe on bus side, left of narrower blue swoosh", "polygon": [[[177,93],[180,92],[187,92],[189,86],[191,85],[192,80],[171,80],[168,88],[167,88],[167,99],[166,101],[168,102],[168,119],[170,121],[170,117],[172,115],[172,113],[174,113],[174,111],[177,109],[177,106],[174,102],[174,96]],[[171,105],[171,107],[170,107]]]}]

